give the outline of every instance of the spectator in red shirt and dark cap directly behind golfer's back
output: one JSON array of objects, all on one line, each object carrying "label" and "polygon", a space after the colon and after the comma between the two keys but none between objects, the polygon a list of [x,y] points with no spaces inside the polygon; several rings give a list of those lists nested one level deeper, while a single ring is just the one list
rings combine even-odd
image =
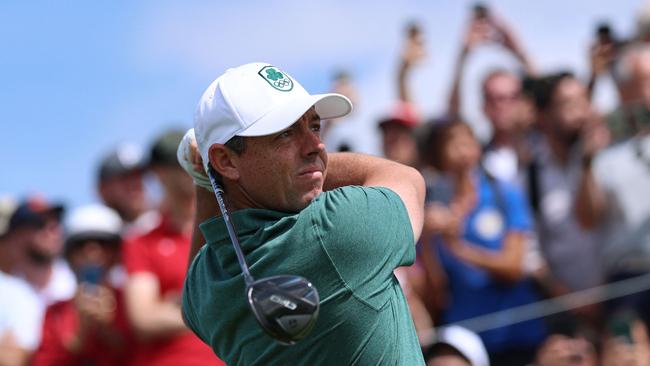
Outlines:
[{"label": "spectator in red shirt and dark cap directly behind golfer's back", "polygon": [[193,228],[194,186],[176,159],[184,131],[170,131],[153,144],[150,168],[163,189],[160,224],[125,245],[129,273],[126,305],[139,339],[135,365],[222,365],[190,332],[180,300]]}]

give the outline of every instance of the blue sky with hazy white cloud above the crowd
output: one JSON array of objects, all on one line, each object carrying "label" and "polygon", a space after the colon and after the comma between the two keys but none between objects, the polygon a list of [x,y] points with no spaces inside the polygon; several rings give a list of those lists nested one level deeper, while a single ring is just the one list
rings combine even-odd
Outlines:
[{"label": "blue sky with hazy white cloud above the crowd", "polygon": [[[621,37],[635,31],[642,1],[485,2],[517,30],[541,71],[588,76],[596,24]],[[0,4],[0,89],[5,173],[0,192],[42,192],[79,205],[96,200],[94,172],[119,142],[146,146],[162,129],[190,127],[207,85],[228,67],[278,65],[312,92],[330,90],[346,70],[361,96],[350,129],[359,150],[380,153],[377,117],[396,99],[406,23],[418,22],[428,55],[413,71],[413,99],[425,116],[441,114],[473,1],[6,1]],[[486,65],[516,68],[499,45],[472,53],[463,109],[482,140]],[[616,93],[599,86],[607,111]]]}]

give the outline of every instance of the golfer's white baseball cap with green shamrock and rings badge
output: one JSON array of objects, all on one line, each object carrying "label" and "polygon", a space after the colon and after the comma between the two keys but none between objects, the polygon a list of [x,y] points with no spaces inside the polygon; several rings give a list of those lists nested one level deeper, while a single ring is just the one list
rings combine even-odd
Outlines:
[{"label": "golfer's white baseball cap with green shamrock and rings badge", "polygon": [[266,136],[294,124],[315,106],[322,119],[345,116],[352,103],[341,94],[310,95],[295,79],[268,63],[227,70],[205,90],[194,116],[204,164],[212,144],[233,136]]}]

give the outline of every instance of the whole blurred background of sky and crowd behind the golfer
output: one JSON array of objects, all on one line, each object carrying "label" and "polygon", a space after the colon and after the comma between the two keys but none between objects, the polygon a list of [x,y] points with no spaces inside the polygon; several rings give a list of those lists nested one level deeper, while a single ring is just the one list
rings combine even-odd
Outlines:
[{"label": "whole blurred background of sky and crowd behind the golfer", "polygon": [[5,1],[0,46],[0,365],[222,364],[176,150],[249,62],[352,99],[330,152],[424,176],[394,273],[427,365],[650,365],[648,1]]}]

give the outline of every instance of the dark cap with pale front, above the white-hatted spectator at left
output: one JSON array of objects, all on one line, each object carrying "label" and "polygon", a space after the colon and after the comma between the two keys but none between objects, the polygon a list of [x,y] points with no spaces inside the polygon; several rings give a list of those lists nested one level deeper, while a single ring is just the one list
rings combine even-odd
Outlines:
[{"label": "dark cap with pale front, above the white-hatted spectator at left", "polygon": [[104,181],[116,176],[142,171],[145,168],[142,150],[135,145],[122,144],[102,159],[97,178]]}]

